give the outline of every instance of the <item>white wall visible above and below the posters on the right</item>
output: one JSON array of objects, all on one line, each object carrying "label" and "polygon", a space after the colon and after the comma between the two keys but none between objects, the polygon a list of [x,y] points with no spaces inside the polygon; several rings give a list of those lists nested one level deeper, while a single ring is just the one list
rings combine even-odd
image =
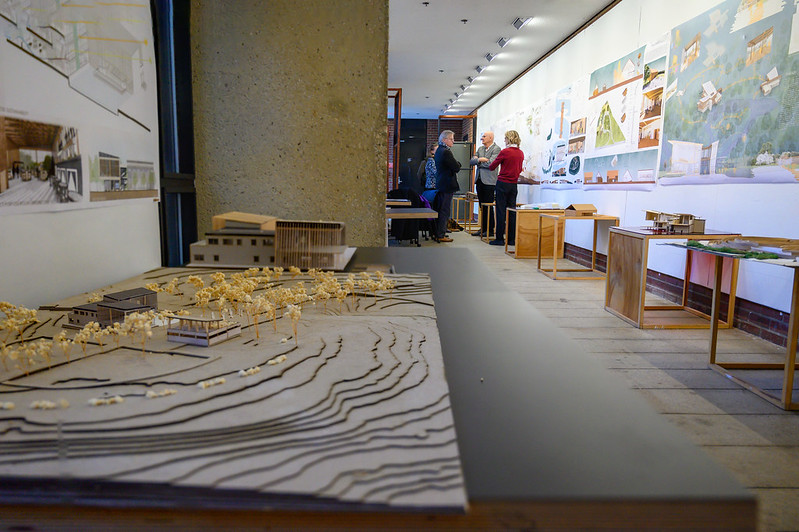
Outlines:
[{"label": "white wall visible above and below the posters on the right", "polygon": [[[478,132],[534,104],[580,76],[592,72],[718,4],[718,0],[624,0],[575,36],[516,83],[479,108]],[[477,135],[476,135],[477,136]],[[658,186],[651,192],[541,190],[520,186],[520,202],[593,203],[602,214],[619,216],[621,226],[644,225],[644,210],[688,212],[707,220],[710,229],[744,235],[799,238],[799,185]],[[591,247],[590,224],[567,225],[566,241]],[[607,249],[606,239],[599,249]],[[684,253],[652,246],[649,267],[682,277]],[[744,262],[738,297],[787,311],[792,271]]]}]

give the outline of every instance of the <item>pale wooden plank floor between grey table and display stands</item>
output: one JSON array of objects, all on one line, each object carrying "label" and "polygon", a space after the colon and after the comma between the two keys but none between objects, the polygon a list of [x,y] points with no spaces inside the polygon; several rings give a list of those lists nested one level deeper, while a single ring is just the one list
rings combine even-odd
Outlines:
[{"label": "pale wooden plank floor between grey table and display stands", "polygon": [[[759,530],[799,530],[799,414],[773,406],[709,369],[707,330],[637,329],[604,309],[604,281],[553,281],[537,271],[534,259],[514,259],[501,246],[464,232],[450,236],[452,243],[422,240],[422,245],[469,248],[502,282],[616,374],[620,386],[637,390],[755,493]],[[647,297],[647,304],[655,302]],[[738,329],[719,332],[718,350],[725,361],[784,358],[784,349]],[[749,377],[764,387],[782,382],[779,372]]]}]

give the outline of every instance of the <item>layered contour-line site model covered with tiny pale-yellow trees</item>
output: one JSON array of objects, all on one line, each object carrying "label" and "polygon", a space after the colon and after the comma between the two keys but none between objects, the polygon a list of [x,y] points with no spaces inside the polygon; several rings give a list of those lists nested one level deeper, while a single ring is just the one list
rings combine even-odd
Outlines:
[{"label": "layered contour-line site model covered with tiny pale-yellow trees", "polygon": [[181,268],[103,291],[152,295],[140,286],[162,310],[111,330],[62,329],[88,294],[0,302],[14,501],[464,511],[428,276]]}]

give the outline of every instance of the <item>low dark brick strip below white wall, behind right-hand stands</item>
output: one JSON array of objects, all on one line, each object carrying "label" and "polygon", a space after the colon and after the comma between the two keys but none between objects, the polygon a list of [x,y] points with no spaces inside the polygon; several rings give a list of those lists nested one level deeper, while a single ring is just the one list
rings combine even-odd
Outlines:
[{"label": "low dark brick strip below white wall, behind right-hand stands", "polygon": [[[591,265],[591,250],[565,244],[564,256],[583,266]],[[607,271],[607,256],[597,253],[597,269]],[[682,302],[683,281],[677,277],[647,270],[647,292],[655,294],[673,303]],[[705,286],[689,283],[688,306],[705,314],[710,314],[712,290]],[[722,294],[721,312],[722,320],[727,321],[727,304],[729,296]],[[782,312],[746,299],[735,299],[735,316],[733,326],[749,334],[763,338],[773,344],[785,347],[788,343],[788,318],[787,312]]]}]

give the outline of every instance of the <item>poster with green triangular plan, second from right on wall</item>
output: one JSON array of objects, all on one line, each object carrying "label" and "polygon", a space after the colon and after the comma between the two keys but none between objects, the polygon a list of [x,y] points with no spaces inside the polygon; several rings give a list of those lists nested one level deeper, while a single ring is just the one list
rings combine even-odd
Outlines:
[{"label": "poster with green triangular plan, second from right on wall", "polygon": [[668,36],[591,73],[583,188],[653,190]]}]

